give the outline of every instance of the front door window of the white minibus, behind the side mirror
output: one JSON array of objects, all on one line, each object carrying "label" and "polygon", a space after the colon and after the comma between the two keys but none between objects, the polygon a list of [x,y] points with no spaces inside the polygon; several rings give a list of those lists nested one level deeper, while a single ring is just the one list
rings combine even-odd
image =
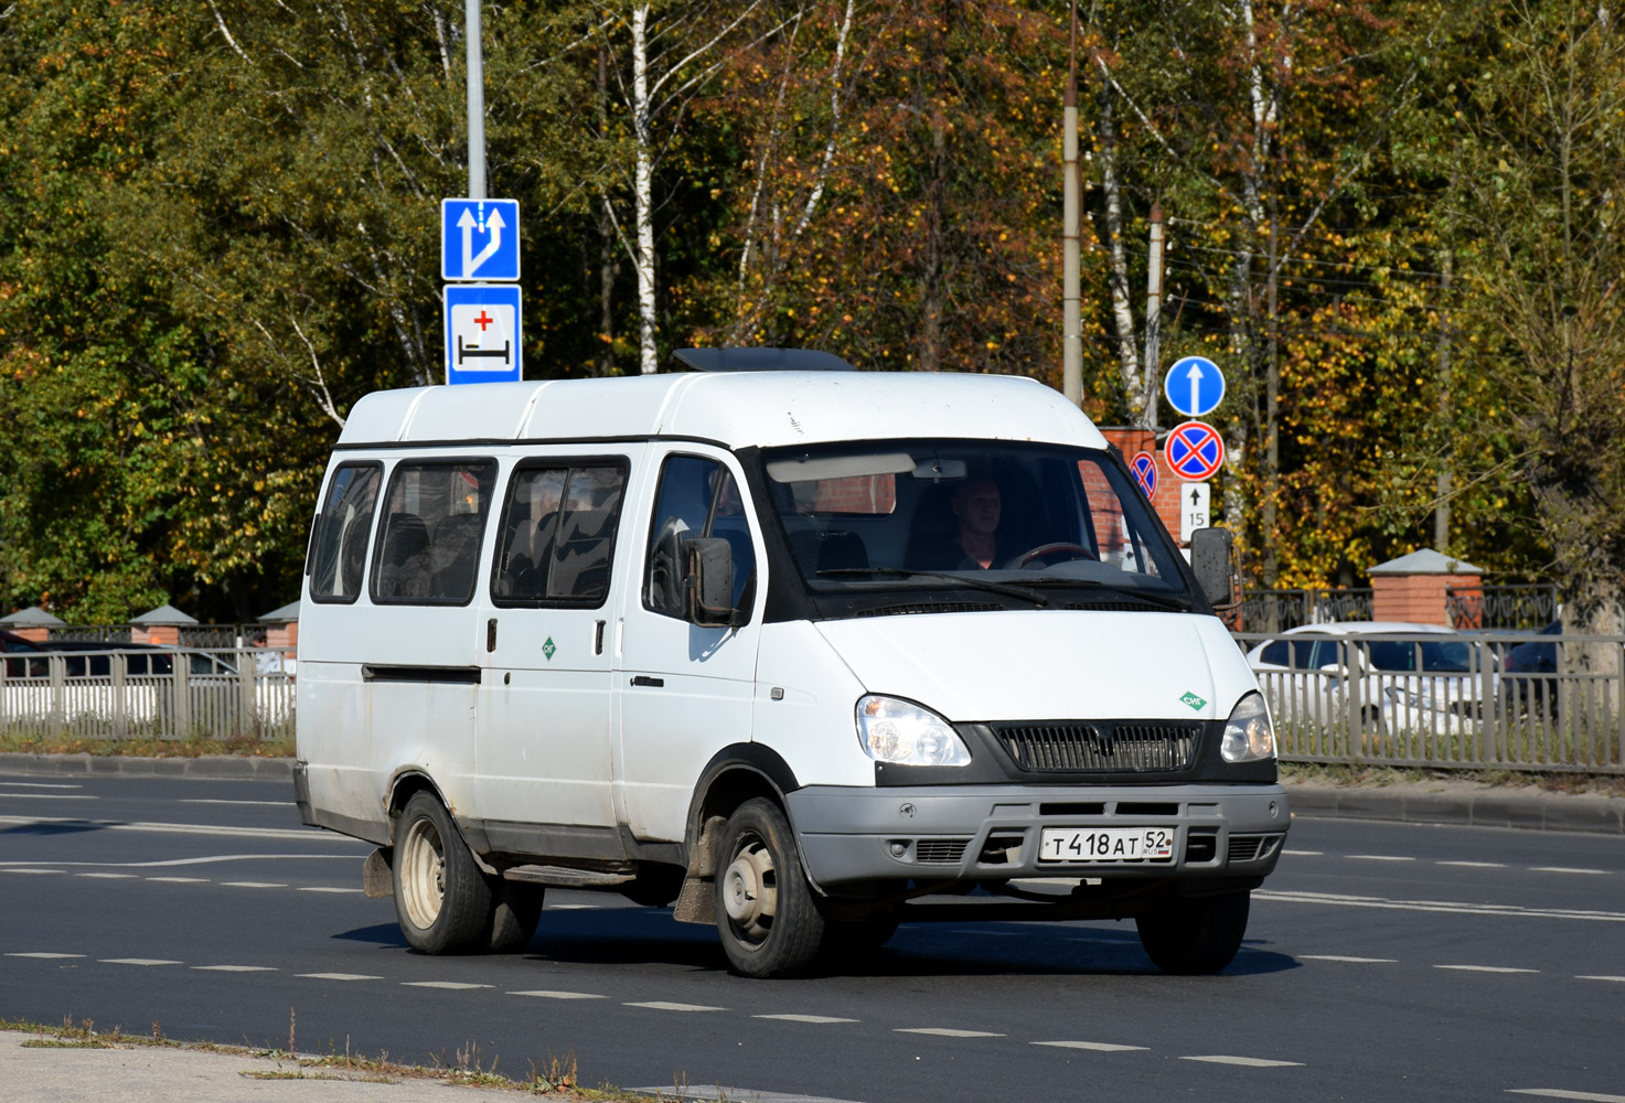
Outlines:
[{"label": "front door window of the white minibus, behind the side mirror", "polygon": [[733,608],[749,604],[756,547],[733,474],[715,460],[671,456],[660,473],[655,518],[648,530],[644,606],[684,616],[681,544],[687,536],[720,536],[733,551]]}]

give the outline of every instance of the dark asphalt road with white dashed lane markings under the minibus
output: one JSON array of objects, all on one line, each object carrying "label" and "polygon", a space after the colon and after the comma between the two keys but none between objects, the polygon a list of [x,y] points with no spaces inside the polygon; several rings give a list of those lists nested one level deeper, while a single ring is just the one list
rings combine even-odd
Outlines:
[{"label": "dark asphalt road with white dashed lane markings under the minibus", "polygon": [[510,957],[410,952],[284,785],[0,776],[0,1017],[826,1100],[1625,1100],[1625,840],[1298,819],[1220,976],[1133,924],[908,924],[803,981],[552,892]]}]

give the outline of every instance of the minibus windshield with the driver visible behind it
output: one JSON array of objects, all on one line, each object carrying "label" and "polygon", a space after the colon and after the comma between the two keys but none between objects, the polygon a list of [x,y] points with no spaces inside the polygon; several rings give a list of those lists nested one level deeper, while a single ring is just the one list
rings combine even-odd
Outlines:
[{"label": "minibus windshield with the driver visible behind it", "polygon": [[1103,450],[863,440],[762,461],[814,598],[970,588],[1011,608],[1191,604],[1178,551]]}]

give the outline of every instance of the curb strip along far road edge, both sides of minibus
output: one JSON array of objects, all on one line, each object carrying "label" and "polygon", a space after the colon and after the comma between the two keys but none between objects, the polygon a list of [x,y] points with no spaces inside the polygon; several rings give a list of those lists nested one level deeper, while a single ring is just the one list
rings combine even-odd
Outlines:
[{"label": "curb strip along far road edge, both sides of minibus", "polygon": [[[119,759],[0,754],[0,775],[255,780],[288,781],[289,786],[292,765],[291,759],[234,755]],[[1625,835],[1625,798],[1617,796],[1545,793],[1532,785],[1493,786],[1448,778],[1370,786],[1297,780],[1284,785],[1292,812],[1305,817]]]}]

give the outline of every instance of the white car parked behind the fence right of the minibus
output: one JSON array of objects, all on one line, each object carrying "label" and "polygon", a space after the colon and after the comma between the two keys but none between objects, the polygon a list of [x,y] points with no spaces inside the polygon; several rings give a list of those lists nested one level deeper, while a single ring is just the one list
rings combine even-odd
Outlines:
[{"label": "white car parked behind the fence right of the minibus", "polygon": [[1438,624],[1306,624],[1254,645],[1246,661],[1284,726],[1462,734],[1498,686],[1488,651]]}]

